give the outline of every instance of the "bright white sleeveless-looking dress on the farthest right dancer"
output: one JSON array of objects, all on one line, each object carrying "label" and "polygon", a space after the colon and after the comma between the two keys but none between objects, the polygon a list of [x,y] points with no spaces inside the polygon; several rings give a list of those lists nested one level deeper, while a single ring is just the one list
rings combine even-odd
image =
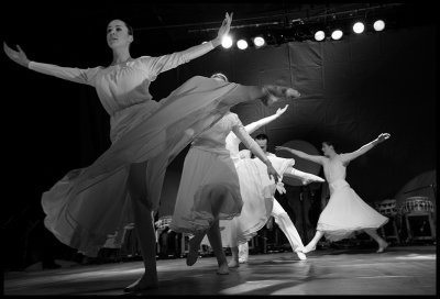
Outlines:
[{"label": "bright white sleeveless-looking dress on the farthest right dancer", "polygon": [[388,218],[365,203],[345,181],[344,154],[323,157],[323,173],[330,188],[330,199],[322,210],[317,230],[329,241],[350,237],[355,231],[378,229]]}]

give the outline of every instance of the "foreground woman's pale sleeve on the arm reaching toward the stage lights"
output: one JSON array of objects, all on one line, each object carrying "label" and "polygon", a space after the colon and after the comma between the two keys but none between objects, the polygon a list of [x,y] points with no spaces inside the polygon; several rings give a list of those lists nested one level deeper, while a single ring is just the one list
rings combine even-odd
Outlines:
[{"label": "foreground woman's pale sleeve on the arm reaching toward the stage lights", "polygon": [[141,62],[152,74],[151,80],[153,81],[156,79],[158,74],[175,68],[182,64],[189,63],[190,60],[207,54],[211,49],[213,49],[213,45],[212,42],[209,42],[182,52],[158,57],[143,56],[141,57]]}]

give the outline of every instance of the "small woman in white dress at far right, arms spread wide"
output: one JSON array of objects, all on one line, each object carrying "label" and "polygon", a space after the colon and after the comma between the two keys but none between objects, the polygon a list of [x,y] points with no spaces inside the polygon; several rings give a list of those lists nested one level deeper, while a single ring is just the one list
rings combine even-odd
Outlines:
[{"label": "small woman in white dress at far right, arms spread wide", "polygon": [[330,142],[322,142],[323,156],[309,155],[304,152],[276,146],[278,151],[287,151],[300,158],[305,158],[323,167],[323,174],[330,187],[330,199],[319,215],[317,232],[307,244],[304,253],[316,250],[318,241],[324,235],[329,241],[339,241],[350,237],[355,231],[363,230],[378,244],[377,253],[382,253],[388,243],[376,232],[388,222],[388,219],[366,204],[345,181],[346,166],[356,157],[365,154],[377,144],[389,139],[388,133],[382,133],[374,141],[363,145],[358,151],[346,154],[337,154]]}]

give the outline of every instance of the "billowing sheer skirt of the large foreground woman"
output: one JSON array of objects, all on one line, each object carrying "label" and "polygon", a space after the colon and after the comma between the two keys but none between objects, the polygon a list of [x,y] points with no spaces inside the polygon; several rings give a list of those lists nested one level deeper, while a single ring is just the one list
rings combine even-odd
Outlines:
[{"label": "billowing sheer skirt of the large foreground woman", "polygon": [[253,90],[193,77],[160,104],[140,103],[141,114],[89,167],[69,171],[43,193],[45,225],[64,244],[96,256],[109,234],[133,221],[128,195],[132,163],[147,162],[145,206],[158,208],[167,165],[230,107]]}]

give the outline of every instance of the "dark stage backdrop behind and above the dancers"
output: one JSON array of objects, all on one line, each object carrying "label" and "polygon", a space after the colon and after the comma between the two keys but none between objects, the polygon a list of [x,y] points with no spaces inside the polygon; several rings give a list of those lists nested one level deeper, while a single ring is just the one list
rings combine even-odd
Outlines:
[{"label": "dark stage backdrop behind and above the dancers", "polygon": [[[221,46],[162,74],[152,84],[155,100],[195,75],[224,73],[243,85],[280,84],[302,97],[276,122],[258,130],[270,135],[270,151],[288,141],[307,141],[318,150],[336,142],[352,152],[382,132],[392,139],[352,162],[348,181],[366,202],[392,198],[415,176],[437,168],[437,24],[426,4],[356,10],[375,3],[142,3],[8,5],[2,9],[3,41],[20,44],[31,60],[69,67],[109,65],[106,26],[114,18],[134,27],[132,56],[157,56],[211,40],[226,11],[234,12],[235,36],[264,31],[270,45]],[[346,16],[342,12],[352,11]],[[337,19],[330,15],[334,13]],[[350,34],[341,41],[309,40],[312,25],[350,23],[383,13],[384,32]],[[318,18],[319,15],[328,15]],[[353,15],[356,14],[356,15]],[[316,16],[310,18],[310,16]],[[345,16],[344,16],[345,15]],[[311,20],[307,26],[287,19]],[[307,19],[309,18],[309,19]],[[371,20],[367,21],[371,21]],[[315,20],[315,21],[314,21]],[[329,21],[330,20],[330,21]],[[315,23],[314,23],[314,22]],[[277,23],[276,25],[251,24]],[[333,22],[333,23],[332,23]],[[248,25],[248,26],[246,26]],[[212,29],[212,30],[210,30]],[[302,30],[300,32],[300,29]],[[248,34],[248,35],[246,35]],[[283,37],[280,37],[283,35]],[[270,37],[268,37],[270,38]],[[109,118],[96,91],[82,85],[30,71],[1,55],[3,73],[3,232],[9,264],[20,259],[25,232],[43,219],[41,195],[68,170],[90,165],[108,146]],[[244,124],[270,115],[260,103],[234,108]],[[169,167],[162,214],[172,211],[184,151]],[[322,173],[320,174],[322,176]],[[4,179],[6,178],[6,179]],[[34,233],[34,239],[43,234]],[[43,240],[43,239],[42,239]],[[20,253],[20,254],[19,254]],[[11,256],[14,256],[13,258]]]}]

